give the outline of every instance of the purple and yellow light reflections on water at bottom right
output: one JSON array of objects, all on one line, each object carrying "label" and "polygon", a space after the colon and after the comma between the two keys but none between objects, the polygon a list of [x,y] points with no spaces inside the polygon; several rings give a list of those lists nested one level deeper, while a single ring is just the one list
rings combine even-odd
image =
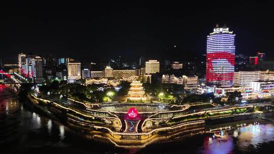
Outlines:
[{"label": "purple and yellow light reflections on water at bottom right", "polygon": [[[233,153],[234,148],[245,152],[250,146],[256,149],[261,143],[274,141],[274,126],[255,123],[227,131],[222,138],[212,136],[204,137],[201,153]],[[237,139],[235,144],[233,138]]]}]

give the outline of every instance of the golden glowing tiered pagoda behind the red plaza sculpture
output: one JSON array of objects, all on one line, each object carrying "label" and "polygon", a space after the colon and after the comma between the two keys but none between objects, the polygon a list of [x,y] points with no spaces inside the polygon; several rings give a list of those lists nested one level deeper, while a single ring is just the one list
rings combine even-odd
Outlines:
[{"label": "golden glowing tiered pagoda behind the red plaza sculpture", "polygon": [[129,97],[127,99],[131,101],[146,100],[145,91],[140,81],[133,81],[130,84],[128,96]]}]

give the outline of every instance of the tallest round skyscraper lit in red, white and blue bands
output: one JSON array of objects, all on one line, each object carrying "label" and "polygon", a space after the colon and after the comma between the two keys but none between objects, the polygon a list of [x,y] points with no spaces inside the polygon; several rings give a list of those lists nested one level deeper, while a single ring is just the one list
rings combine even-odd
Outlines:
[{"label": "tallest round skyscraper lit in red, white and blue bands", "polygon": [[207,72],[208,83],[219,87],[231,87],[235,65],[235,34],[228,27],[219,27],[207,38]]}]

